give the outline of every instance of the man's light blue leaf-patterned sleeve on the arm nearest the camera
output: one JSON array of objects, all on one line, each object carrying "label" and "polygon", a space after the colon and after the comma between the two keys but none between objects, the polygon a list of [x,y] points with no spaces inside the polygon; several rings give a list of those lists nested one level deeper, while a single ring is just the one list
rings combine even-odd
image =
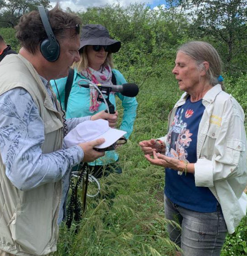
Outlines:
[{"label": "man's light blue leaf-patterned sleeve on the arm nearest the camera", "polygon": [[[21,101],[20,101],[21,97]],[[0,96],[0,151],[6,175],[20,190],[69,176],[84,157],[79,146],[42,153],[44,123],[31,95],[15,88]],[[80,120],[70,120],[69,128]]]}]

